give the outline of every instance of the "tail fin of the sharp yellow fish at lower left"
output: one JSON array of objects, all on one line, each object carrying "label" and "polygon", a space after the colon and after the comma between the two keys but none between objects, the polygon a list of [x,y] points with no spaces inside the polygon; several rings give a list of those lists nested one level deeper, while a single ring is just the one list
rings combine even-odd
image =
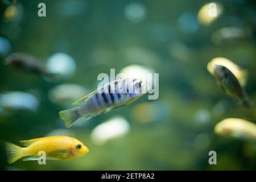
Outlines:
[{"label": "tail fin of the sharp yellow fish at lower left", "polygon": [[16,160],[23,157],[22,147],[16,146],[13,143],[6,142],[6,156],[9,164],[16,162]]}]

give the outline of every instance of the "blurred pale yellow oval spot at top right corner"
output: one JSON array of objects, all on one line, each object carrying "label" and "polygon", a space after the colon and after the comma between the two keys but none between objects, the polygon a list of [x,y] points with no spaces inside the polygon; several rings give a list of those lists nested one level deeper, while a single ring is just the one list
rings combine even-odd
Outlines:
[{"label": "blurred pale yellow oval spot at top right corner", "polygon": [[222,14],[222,9],[220,3],[207,3],[199,10],[197,19],[204,26],[208,26]]}]

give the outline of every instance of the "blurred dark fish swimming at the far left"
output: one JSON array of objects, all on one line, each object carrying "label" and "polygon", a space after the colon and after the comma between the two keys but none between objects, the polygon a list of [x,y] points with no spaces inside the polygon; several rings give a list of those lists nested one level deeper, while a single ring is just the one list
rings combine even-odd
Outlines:
[{"label": "blurred dark fish swimming at the far left", "polygon": [[5,59],[5,64],[13,68],[22,69],[24,72],[54,78],[54,73],[49,73],[42,61],[26,53],[12,53]]}]

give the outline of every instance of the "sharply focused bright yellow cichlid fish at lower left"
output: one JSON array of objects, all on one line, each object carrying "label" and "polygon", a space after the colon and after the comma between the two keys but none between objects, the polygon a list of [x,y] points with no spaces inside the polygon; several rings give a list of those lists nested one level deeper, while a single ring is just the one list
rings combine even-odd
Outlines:
[{"label": "sharply focused bright yellow cichlid fish at lower left", "polygon": [[46,152],[46,159],[72,159],[85,155],[89,149],[79,140],[65,136],[43,137],[31,140],[22,140],[25,147],[16,146],[6,142],[6,156],[9,164],[23,158],[25,160],[38,160],[39,151]]}]

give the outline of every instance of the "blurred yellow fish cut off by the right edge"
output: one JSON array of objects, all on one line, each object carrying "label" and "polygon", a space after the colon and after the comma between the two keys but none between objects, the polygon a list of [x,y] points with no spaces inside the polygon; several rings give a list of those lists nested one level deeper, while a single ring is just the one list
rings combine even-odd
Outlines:
[{"label": "blurred yellow fish cut off by the right edge", "polygon": [[256,142],[256,124],[240,118],[226,118],[217,123],[214,133]]}]

